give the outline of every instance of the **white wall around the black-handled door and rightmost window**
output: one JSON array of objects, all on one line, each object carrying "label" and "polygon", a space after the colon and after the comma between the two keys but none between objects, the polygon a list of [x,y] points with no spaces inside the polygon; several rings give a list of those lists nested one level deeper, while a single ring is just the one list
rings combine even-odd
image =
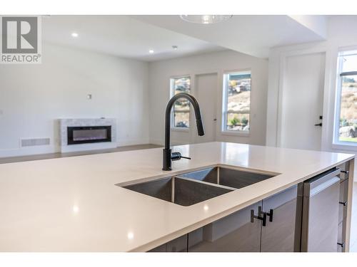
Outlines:
[{"label": "white wall around the black-handled door and rightmost window", "polygon": [[[346,151],[351,147],[333,147],[333,115],[336,94],[336,68],[338,49],[357,48],[357,16],[332,16],[328,19],[327,41],[296,46],[272,48],[269,55],[268,108],[266,117],[266,145],[276,146],[278,123],[278,98],[281,85],[280,70],[286,56],[296,53],[326,53],[325,82],[323,95],[323,129],[321,150]],[[355,150],[356,151],[356,150]]]}]

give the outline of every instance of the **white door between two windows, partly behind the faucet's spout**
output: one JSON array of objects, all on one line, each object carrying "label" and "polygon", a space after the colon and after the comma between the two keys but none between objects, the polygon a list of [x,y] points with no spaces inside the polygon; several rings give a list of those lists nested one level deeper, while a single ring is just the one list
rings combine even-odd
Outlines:
[{"label": "white door between two windows, partly behind the faucet's spout", "polygon": [[[201,108],[205,134],[198,136],[193,130],[193,142],[213,142],[216,140],[217,73],[196,75],[195,81],[195,95]],[[196,122],[192,125],[196,127]]]}]

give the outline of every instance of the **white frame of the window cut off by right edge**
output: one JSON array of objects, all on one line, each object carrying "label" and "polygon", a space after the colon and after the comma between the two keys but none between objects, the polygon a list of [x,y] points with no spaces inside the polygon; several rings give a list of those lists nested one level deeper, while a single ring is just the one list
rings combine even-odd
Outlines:
[{"label": "white frame of the window cut off by right edge", "polygon": [[[352,53],[355,51],[356,53]],[[343,72],[343,53],[349,53],[349,55],[356,55],[357,48],[351,48],[348,50],[338,51],[337,55],[337,68],[336,68],[336,93],[335,93],[335,112],[334,122],[333,122],[333,137],[332,137],[332,148],[333,149],[346,149],[346,150],[356,150],[357,142],[340,141],[340,116],[341,116],[341,98],[342,98],[342,79],[347,75],[357,75],[357,67],[354,71]]]}]

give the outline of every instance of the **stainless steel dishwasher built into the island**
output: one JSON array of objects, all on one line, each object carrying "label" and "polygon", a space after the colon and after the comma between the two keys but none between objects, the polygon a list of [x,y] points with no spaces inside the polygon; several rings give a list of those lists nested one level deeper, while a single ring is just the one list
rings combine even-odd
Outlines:
[{"label": "stainless steel dishwasher built into the island", "polygon": [[340,169],[333,168],[300,185],[301,251],[336,252]]}]

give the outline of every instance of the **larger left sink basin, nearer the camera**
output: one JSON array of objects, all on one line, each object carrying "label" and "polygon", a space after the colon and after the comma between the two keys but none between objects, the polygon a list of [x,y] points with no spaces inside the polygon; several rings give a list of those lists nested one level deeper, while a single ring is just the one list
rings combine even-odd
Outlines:
[{"label": "larger left sink basin, nearer the camera", "polygon": [[234,190],[233,188],[208,184],[185,177],[167,177],[149,182],[130,184],[124,186],[124,188],[181,206],[191,206]]}]

